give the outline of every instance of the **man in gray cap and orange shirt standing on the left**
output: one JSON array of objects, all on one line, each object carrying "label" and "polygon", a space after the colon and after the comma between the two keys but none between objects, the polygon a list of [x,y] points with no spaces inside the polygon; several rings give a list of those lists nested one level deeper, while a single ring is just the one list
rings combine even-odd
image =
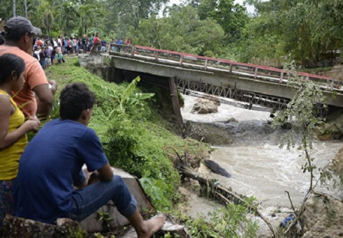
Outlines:
[{"label": "man in gray cap and orange shirt standing on the left", "polygon": [[53,92],[57,85],[55,80],[50,80],[52,87],[49,88],[44,70],[31,56],[33,36],[41,34],[41,30],[21,16],[7,20],[4,30],[5,43],[0,46],[0,56],[8,53],[16,55],[25,61],[26,66],[23,89],[13,99],[18,106],[24,105],[21,110],[25,116],[34,117],[38,113],[47,118],[52,110]]}]

